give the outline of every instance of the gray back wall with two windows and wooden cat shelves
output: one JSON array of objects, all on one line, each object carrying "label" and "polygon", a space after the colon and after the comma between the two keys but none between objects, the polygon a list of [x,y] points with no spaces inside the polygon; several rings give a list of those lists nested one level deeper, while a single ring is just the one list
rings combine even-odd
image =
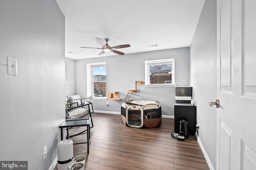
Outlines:
[{"label": "gray back wall with two windows and wooden cat shelves", "polygon": [[[145,80],[145,61],[156,59],[175,59],[175,82],[177,85],[189,85],[189,47],[168,49],[144,53],[99,57],[76,60],[76,94],[87,97],[86,64],[105,62],[107,66],[107,91],[119,91],[120,98],[135,88],[135,80]],[[66,70],[69,71],[69,70]],[[132,93],[128,100],[157,100],[162,104],[162,114],[174,116],[174,87],[144,87],[138,85],[138,93]],[[109,102],[109,106],[106,106]],[[94,100],[94,110],[120,112],[122,101]]]}]

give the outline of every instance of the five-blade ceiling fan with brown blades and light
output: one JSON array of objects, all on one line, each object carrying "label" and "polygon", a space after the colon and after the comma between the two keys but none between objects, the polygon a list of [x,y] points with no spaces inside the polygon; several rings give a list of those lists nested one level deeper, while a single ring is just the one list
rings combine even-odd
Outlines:
[{"label": "five-blade ceiling fan with brown blades and light", "polygon": [[119,55],[124,55],[123,52],[121,51],[116,51],[113,49],[121,49],[121,48],[126,48],[126,47],[131,47],[129,44],[124,44],[124,45],[116,45],[114,47],[111,47],[110,45],[108,45],[108,42],[110,41],[110,39],[105,38],[106,43],[104,43],[104,41],[100,38],[96,38],[96,40],[102,45],[101,48],[94,48],[94,47],[81,47],[81,48],[88,48],[88,49],[102,49],[103,51],[100,52],[98,55],[102,55],[105,52],[108,51],[112,51],[113,53],[119,54]]}]

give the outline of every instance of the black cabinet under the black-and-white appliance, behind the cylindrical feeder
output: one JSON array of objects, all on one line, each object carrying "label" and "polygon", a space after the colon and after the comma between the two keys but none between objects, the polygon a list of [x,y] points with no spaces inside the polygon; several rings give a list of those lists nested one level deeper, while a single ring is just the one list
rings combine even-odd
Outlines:
[{"label": "black cabinet under the black-and-white appliance, behind the cylindrical feeder", "polygon": [[196,133],[196,106],[191,104],[175,104],[174,105],[174,132],[179,133],[180,119],[188,121],[189,135]]}]

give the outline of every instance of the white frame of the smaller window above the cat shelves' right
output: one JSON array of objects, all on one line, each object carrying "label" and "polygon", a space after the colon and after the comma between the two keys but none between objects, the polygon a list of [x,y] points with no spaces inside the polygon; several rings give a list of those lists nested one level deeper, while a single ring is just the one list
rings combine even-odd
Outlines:
[{"label": "white frame of the smaller window above the cat shelves' right", "polygon": [[[149,66],[152,64],[172,64],[172,83],[166,84],[150,84],[150,69]],[[176,86],[175,84],[175,63],[174,59],[161,59],[161,60],[150,60],[145,61],[145,87],[165,87],[165,86]]]}]

